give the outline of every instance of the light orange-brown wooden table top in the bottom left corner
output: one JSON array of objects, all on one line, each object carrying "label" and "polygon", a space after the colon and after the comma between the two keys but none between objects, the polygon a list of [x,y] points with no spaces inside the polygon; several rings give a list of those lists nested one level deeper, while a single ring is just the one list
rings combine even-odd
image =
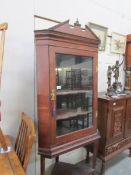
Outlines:
[{"label": "light orange-brown wooden table top in the bottom left corner", "polygon": [[[8,136],[4,136],[4,141],[7,148],[12,148]],[[0,148],[2,145],[2,140],[0,140]],[[8,153],[0,153],[0,175],[25,175],[20,161],[13,149]]]}]

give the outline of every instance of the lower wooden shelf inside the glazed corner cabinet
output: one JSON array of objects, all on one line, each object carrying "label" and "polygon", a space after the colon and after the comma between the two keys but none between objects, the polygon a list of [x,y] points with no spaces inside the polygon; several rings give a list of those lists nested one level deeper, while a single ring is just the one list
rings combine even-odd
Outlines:
[{"label": "lower wooden shelf inside the glazed corner cabinet", "polygon": [[56,120],[68,119],[71,117],[77,117],[78,115],[87,115],[91,113],[91,111],[59,110],[57,111]]}]

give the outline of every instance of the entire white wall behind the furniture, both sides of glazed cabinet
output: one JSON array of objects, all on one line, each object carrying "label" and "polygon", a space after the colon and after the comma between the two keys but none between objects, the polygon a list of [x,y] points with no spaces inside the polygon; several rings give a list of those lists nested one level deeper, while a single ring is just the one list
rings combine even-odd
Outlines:
[{"label": "entire white wall behind the furniture, both sides of glazed cabinet", "polygon": [[[20,120],[20,113],[25,111],[35,120],[34,95],[34,34],[33,30],[45,28],[43,20],[33,19],[33,15],[45,16],[59,21],[76,18],[84,26],[88,22],[108,27],[108,34],[117,32],[129,34],[131,31],[130,0],[3,0],[0,6],[0,23],[6,21],[9,28],[6,31],[5,54],[1,87],[2,129],[14,138]],[[113,65],[122,56],[110,53],[110,40],[107,40],[105,52],[99,52],[98,91],[104,91],[108,65]],[[121,67],[120,80],[124,82],[124,72]],[[15,126],[15,127],[14,127]],[[35,150],[35,148],[34,148]],[[34,152],[33,152],[34,153]],[[36,150],[37,153],[37,150]],[[68,162],[77,162],[85,157],[85,150],[79,149],[61,156]],[[36,159],[36,167],[35,167]],[[46,159],[47,174],[53,160]],[[32,154],[28,174],[39,174],[39,156]]]}]

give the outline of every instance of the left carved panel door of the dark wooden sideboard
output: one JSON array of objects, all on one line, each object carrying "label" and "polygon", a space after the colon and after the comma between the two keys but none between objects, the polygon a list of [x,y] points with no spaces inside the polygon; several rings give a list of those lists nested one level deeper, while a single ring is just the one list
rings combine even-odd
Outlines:
[{"label": "left carved panel door of the dark wooden sideboard", "polygon": [[107,143],[112,144],[124,137],[126,100],[116,100],[109,103],[109,120]]}]

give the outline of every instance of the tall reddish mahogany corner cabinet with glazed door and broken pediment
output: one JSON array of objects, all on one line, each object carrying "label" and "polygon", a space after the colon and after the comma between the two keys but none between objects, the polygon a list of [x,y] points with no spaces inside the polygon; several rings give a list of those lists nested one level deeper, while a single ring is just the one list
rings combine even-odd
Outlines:
[{"label": "tall reddish mahogany corner cabinet with glazed door and broken pediment", "polygon": [[38,152],[44,158],[94,143],[99,39],[78,21],[35,31]]}]

